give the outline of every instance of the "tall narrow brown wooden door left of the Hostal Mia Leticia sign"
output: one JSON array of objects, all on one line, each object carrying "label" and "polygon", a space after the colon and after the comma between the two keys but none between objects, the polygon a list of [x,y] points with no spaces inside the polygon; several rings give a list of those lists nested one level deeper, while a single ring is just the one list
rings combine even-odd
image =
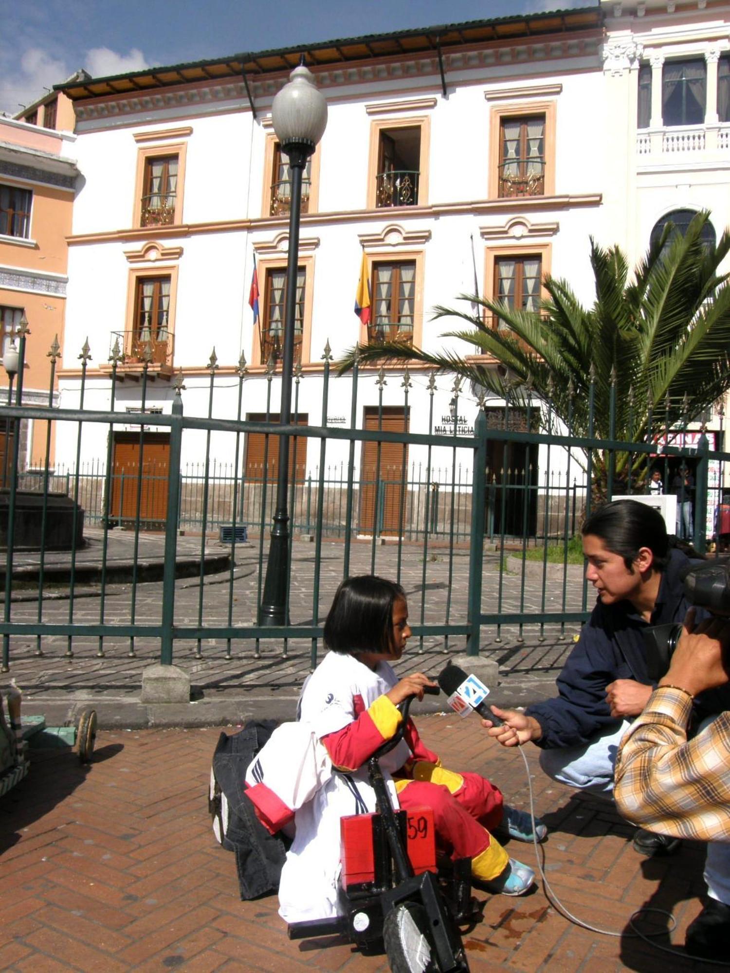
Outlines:
[{"label": "tall narrow brown wooden door left of the Hostal Mia Leticia sign", "polygon": [[[407,432],[408,417],[400,406],[365,408],[365,428]],[[379,465],[380,453],[380,465]],[[403,479],[408,468],[408,447],[402,443],[363,443],[360,464],[359,532],[398,536],[403,532],[405,495]],[[401,512],[403,507],[403,512]]]}]

